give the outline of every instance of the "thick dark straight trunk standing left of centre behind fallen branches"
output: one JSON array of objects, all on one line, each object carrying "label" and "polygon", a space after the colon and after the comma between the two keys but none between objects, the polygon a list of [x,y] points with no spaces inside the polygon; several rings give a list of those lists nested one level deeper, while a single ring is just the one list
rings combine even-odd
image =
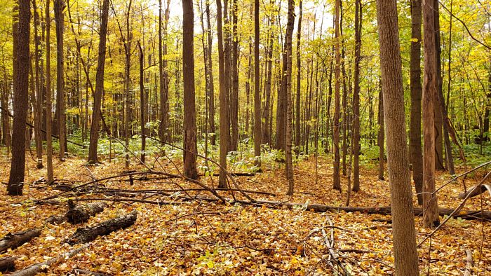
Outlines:
[{"label": "thick dark straight trunk standing left of centre behind fallen branches", "polygon": [[198,178],[196,170],[196,107],[194,103],[193,1],[182,1],[182,74],[184,81],[184,176]]}]

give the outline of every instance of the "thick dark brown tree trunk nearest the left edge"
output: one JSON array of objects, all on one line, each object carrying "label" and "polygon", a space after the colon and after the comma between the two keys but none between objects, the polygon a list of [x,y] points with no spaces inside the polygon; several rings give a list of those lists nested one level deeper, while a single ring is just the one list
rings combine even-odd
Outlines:
[{"label": "thick dark brown tree trunk nearest the left edge", "polygon": [[19,0],[13,8],[13,118],[12,160],[8,179],[8,195],[22,195],[25,176],[25,122],[29,91],[29,0]]}]

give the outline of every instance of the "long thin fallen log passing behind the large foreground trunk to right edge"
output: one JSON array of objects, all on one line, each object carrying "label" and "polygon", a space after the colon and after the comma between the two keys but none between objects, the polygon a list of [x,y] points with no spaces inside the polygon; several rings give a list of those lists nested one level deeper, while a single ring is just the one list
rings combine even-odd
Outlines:
[{"label": "long thin fallen log passing behind the large foreground trunk to right edge", "polygon": [[[203,198],[197,198],[202,200]],[[302,203],[292,203],[292,202],[279,202],[279,201],[269,201],[269,200],[259,200],[257,202],[249,202],[246,200],[236,200],[235,202],[245,204],[245,205],[264,205],[266,207],[287,207],[302,208],[307,210],[313,210],[314,212],[333,212],[333,211],[344,211],[344,212],[360,212],[362,214],[382,214],[386,216],[391,215],[391,207],[343,207],[343,206],[329,206],[321,204],[302,204]],[[440,208],[438,213],[440,216],[450,216],[454,209]],[[422,216],[423,209],[419,207],[414,208],[415,216]],[[461,219],[483,219],[484,221],[491,221],[491,212],[471,210],[462,210],[453,215],[454,218]]]}]

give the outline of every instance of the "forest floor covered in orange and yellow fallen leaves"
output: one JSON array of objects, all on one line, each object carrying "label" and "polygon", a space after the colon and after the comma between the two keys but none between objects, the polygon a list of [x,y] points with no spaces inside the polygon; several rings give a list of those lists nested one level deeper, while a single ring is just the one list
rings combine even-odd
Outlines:
[{"label": "forest floor covered in orange and yellow fallen leaves", "polygon": [[[52,225],[44,222],[53,214],[65,214],[65,204],[32,205],[32,200],[60,193],[46,183],[34,183],[44,177],[46,170],[36,170],[34,161],[27,156],[24,195],[9,197],[0,189],[0,237],[6,233],[43,227],[40,237],[9,249],[2,256],[18,256],[17,268],[46,261],[72,249],[62,244],[80,226],[92,226],[115,216],[137,210],[135,225],[98,237],[90,247],[76,256],[62,260],[46,270],[48,275],[67,275],[74,268],[103,272],[107,275],[330,275],[334,269],[328,264],[329,252],[325,234],[334,233],[334,248],[339,260],[352,275],[383,275],[394,272],[394,256],[390,216],[346,212],[311,212],[302,207],[268,208],[251,205],[224,205],[220,202],[190,201],[181,204],[151,205],[142,202],[108,201],[109,207],[82,225],[67,222]],[[81,158],[54,161],[55,177],[68,179],[75,184],[101,179],[125,171],[124,162],[86,166]],[[155,164],[154,159],[149,163]],[[168,160],[160,161],[168,172],[177,172]],[[176,160],[177,167],[180,161]],[[303,160],[295,166],[295,194],[286,196],[287,181],[279,164],[263,165],[264,172],[248,177],[236,177],[243,189],[264,191],[276,195],[250,194],[255,200],[297,202],[305,204],[344,206],[347,178],[342,177],[342,193],[332,189],[332,161],[318,160],[316,180],[315,158]],[[0,180],[8,181],[9,161],[0,160]],[[373,166],[372,166],[373,167]],[[142,165],[132,170],[144,171]],[[463,168],[457,168],[464,172]],[[484,170],[470,174],[466,179],[469,188],[483,178]],[[389,181],[379,181],[377,171],[361,168],[361,191],[351,193],[352,207],[389,206]],[[122,178],[121,178],[122,179]],[[125,179],[128,179],[127,177]],[[437,187],[450,179],[438,172]],[[64,181],[68,183],[69,181]],[[209,186],[217,184],[217,177],[201,177]],[[112,179],[101,182],[106,188],[128,190],[199,188],[196,184],[174,181],[129,181]],[[3,186],[3,185],[2,185]],[[5,186],[4,186],[5,187]],[[462,182],[457,181],[438,193],[440,207],[455,208],[462,193]],[[208,196],[206,192],[189,191],[190,195]],[[178,193],[182,195],[183,193]],[[175,194],[174,194],[175,195]],[[230,192],[220,195],[231,198]],[[234,193],[238,198],[243,198]],[[154,194],[149,200],[169,202],[177,198]],[[208,196],[210,197],[210,196]],[[105,198],[102,194],[80,195],[79,198]],[[481,200],[482,199],[482,200]],[[65,202],[67,198],[62,198]],[[416,205],[415,200],[415,205]],[[487,193],[471,198],[464,209],[491,209]],[[443,218],[440,218],[443,220]],[[329,226],[329,221],[333,227]],[[415,219],[417,242],[431,230]],[[466,249],[473,253],[473,270],[481,275],[491,273],[491,223],[478,220],[450,219],[433,237],[418,249],[422,273],[429,275],[462,275],[466,267]],[[336,268],[337,266],[334,265]],[[1,274],[1,273],[0,273]]]}]

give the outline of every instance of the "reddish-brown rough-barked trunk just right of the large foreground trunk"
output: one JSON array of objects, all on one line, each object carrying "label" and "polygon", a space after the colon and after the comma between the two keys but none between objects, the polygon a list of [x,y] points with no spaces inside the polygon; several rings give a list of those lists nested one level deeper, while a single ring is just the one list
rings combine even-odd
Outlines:
[{"label": "reddish-brown rough-barked trunk just right of the large foreground trunk", "polygon": [[[423,223],[426,227],[439,224],[438,203],[435,191],[435,102],[438,92],[438,69],[436,61],[435,0],[423,3],[424,26],[424,85],[423,85]],[[438,102],[437,102],[438,104]]]}]

